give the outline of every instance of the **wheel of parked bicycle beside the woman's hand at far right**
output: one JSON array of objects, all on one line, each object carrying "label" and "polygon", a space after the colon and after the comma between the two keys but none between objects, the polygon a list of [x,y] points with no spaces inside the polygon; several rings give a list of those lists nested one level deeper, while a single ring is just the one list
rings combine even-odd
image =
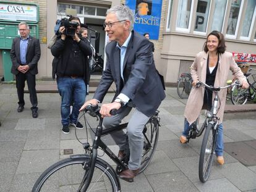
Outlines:
[{"label": "wheel of parked bicycle beside the woman's hand at far right", "polygon": [[235,85],[231,90],[231,101],[234,105],[245,104],[247,102],[247,95],[249,95],[249,89],[242,89]]}]

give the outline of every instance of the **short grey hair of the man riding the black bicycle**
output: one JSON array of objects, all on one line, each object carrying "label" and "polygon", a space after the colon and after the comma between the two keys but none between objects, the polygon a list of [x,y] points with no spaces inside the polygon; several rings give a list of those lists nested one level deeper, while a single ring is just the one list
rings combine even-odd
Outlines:
[{"label": "short grey hair of the man riding the black bicycle", "polygon": [[114,6],[107,10],[106,14],[116,14],[118,20],[129,20],[130,28],[129,30],[133,30],[134,28],[134,13],[127,6]]}]

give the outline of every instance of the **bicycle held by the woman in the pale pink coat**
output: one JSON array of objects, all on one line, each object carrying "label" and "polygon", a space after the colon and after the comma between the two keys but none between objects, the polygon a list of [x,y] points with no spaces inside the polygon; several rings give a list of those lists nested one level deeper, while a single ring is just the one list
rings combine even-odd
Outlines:
[{"label": "bicycle held by the woman in the pale pink coat", "polygon": [[202,135],[205,130],[205,135],[203,135],[202,146],[200,150],[200,158],[199,158],[199,167],[198,167],[198,175],[199,179],[202,183],[205,183],[208,180],[208,177],[211,172],[211,165],[213,162],[213,154],[215,154],[216,149],[216,141],[218,136],[218,122],[219,117],[217,116],[218,110],[220,109],[220,98],[218,96],[218,91],[221,89],[226,89],[231,86],[240,86],[238,83],[232,83],[231,85],[223,86],[223,87],[213,87],[208,86],[203,82],[198,82],[197,86],[203,86],[207,88],[209,91],[213,91],[215,94],[215,98],[213,100],[213,105],[210,111],[207,111],[206,118],[200,128],[199,117],[198,119],[192,123],[192,128],[189,130],[189,136],[187,137],[187,142],[190,139],[195,139],[196,137]]}]

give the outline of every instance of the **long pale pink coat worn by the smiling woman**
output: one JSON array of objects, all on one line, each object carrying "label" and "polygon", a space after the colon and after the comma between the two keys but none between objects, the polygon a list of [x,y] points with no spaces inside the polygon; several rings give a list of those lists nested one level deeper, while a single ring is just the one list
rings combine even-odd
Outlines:
[{"label": "long pale pink coat worn by the smiling woman", "polygon": [[[191,65],[191,75],[193,80],[198,79],[199,81],[205,83],[207,72],[207,57],[208,53],[204,51],[199,52],[195,57],[195,61]],[[237,66],[231,52],[224,52],[220,55],[220,61],[216,72],[214,86],[226,86],[229,70],[233,72],[234,77],[236,77],[241,83],[243,81],[246,81],[244,73],[242,73],[241,69]],[[189,124],[192,124],[200,115],[203,106],[204,91],[205,89],[202,86],[200,86],[199,88],[193,87],[189,94],[189,99],[187,100],[187,105],[184,112],[184,115]],[[219,123],[221,123],[223,120],[224,107],[226,103],[226,93],[226,89],[218,91],[218,95],[220,96],[221,101],[220,110],[217,114],[217,116],[220,117]],[[213,99],[214,98],[215,94],[213,94]]]}]

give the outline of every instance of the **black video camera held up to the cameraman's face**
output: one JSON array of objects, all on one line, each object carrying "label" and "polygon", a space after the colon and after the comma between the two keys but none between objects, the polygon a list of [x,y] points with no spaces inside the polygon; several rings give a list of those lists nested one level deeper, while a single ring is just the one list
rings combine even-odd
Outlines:
[{"label": "black video camera held up to the cameraman's face", "polygon": [[59,28],[64,26],[65,31],[64,34],[67,36],[74,36],[75,31],[77,30],[77,27],[79,27],[78,22],[71,22],[67,18],[62,18],[61,20],[56,21],[56,26],[54,27],[55,34],[57,35],[59,33]]}]

